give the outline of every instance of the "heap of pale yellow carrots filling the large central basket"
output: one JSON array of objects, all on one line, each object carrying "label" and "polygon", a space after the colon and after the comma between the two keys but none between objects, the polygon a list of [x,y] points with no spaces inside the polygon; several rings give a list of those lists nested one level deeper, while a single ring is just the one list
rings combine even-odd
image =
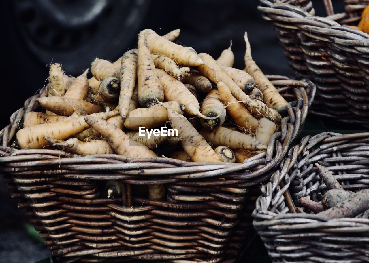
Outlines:
[{"label": "heap of pale yellow carrots filling the large central basket", "polygon": [[[239,163],[265,151],[287,102],[252,60],[247,34],[239,70],[231,47],[215,60],[174,43],[179,32],[141,31],[114,63],[96,58],[89,79],[88,69],[75,78],[51,64],[37,99],[45,113],[24,114],[16,147]],[[140,136],[163,126],[177,134]]]}]

